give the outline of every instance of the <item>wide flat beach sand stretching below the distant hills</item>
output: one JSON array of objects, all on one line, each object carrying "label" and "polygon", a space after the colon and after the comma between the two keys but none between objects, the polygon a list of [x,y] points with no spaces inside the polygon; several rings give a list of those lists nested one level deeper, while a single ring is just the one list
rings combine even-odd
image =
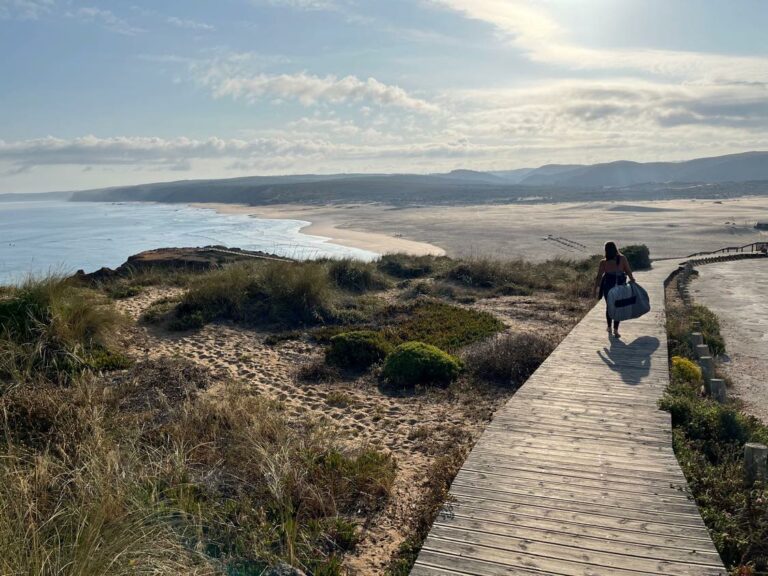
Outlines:
[{"label": "wide flat beach sand stretching below the distant hills", "polygon": [[447,254],[502,259],[579,259],[606,240],[646,244],[654,258],[768,241],[765,198],[408,206],[349,204],[244,206],[193,204],[223,213],[308,221],[302,232],[385,254]]}]

